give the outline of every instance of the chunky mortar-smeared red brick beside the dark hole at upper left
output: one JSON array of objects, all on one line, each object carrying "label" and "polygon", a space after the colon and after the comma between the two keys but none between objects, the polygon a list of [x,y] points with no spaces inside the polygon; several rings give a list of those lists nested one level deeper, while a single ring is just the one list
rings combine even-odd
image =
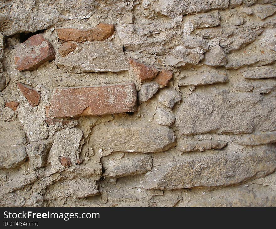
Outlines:
[{"label": "chunky mortar-smeared red brick beside the dark hole at upper left", "polygon": [[14,57],[16,68],[21,71],[34,70],[46,61],[55,59],[55,50],[42,34],[31,36],[18,47]]}]

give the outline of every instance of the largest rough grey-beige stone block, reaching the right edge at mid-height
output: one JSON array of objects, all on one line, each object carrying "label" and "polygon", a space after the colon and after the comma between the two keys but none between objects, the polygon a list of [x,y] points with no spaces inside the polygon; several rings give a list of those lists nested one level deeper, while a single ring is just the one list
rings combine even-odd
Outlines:
[{"label": "largest rough grey-beige stone block, reaching the right edge at mid-height", "polygon": [[176,110],[175,125],[183,134],[250,133],[276,128],[272,115],[275,101],[252,93],[193,93]]}]

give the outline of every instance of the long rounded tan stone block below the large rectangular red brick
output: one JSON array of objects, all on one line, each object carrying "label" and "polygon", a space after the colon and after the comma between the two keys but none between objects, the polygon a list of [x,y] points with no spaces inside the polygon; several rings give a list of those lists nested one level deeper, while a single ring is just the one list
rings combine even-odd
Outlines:
[{"label": "long rounded tan stone block below the large rectangular red brick", "polygon": [[148,153],[169,149],[175,141],[175,135],[172,130],[160,125],[104,123],[93,128],[90,141],[93,142],[93,147],[109,152]]}]

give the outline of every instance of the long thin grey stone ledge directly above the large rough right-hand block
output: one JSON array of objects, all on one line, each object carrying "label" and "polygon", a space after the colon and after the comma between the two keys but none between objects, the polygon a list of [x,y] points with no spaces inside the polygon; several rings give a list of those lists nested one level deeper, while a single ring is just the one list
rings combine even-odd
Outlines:
[{"label": "long thin grey stone ledge directly above the large rough right-hand block", "polygon": [[228,77],[220,73],[198,73],[188,77],[180,78],[179,86],[187,85],[208,85],[214,83],[226,83]]}]

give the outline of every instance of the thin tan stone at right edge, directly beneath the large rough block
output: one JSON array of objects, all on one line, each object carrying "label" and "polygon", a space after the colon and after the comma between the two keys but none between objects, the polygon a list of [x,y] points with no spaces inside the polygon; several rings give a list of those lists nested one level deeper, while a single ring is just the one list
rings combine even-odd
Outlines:
[{"label": "thin tan stone at right edge, directly beneath the large rough block", "polygon": [[276,142],[276,133],[250,134],[238,137],[237,143],[243,146],[257,146]]}]

